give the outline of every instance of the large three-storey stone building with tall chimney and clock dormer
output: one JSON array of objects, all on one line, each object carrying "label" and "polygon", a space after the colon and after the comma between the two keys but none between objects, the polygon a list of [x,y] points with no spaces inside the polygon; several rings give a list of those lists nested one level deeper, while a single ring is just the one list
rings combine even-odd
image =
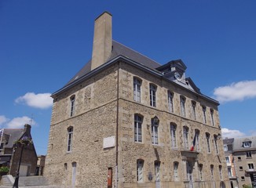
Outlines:
[{"label": "large three-storey stone building with tall chimney and clock dormer", "polygon": [[95,20],[93,56],[54,92],[45,174],[73,187],[229,187],[218,101]]}]

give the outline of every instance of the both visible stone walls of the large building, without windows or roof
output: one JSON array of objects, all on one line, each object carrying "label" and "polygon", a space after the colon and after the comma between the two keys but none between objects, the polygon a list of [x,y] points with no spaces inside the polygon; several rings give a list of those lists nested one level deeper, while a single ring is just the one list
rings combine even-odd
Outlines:
[{"label": "both visible stone walls of the large building, without windows or roof", "polygon": [[[127,63],[118,63],[79,85],[54,96],[53,114],[49,132],[45,175],[53,184],[71,186],[72,164],[76,163],[75,187],[101,188],[107,185],[108,168],[113,169],[112,187],[115,187],[115,147],[103,149],[103,139],[116,136],[118,125],[118,187],[156,187],[154,161],[160,161],[161,187],[185,187],[185,161],[195,159],[193,180],[199,180],[198,164],[203,164],[204,186],[210,187],[210,164],[214,165],[214,182],[225,182],[229,177],[225,164],[223,144],[218,140],[219,154],[214,149],[213,136],[221,134],[218,106],[186,89],[138,70]],[[119,75],[119,99],[117,83]],[[142,80],[141,103],[133,101],[133,77]],[[149,83],[157,86],[156,107],[149,103]],[[174,92],[174,113],[168,112],[167,90]],[[75,95],[75,115],[70,117],[70,98]],[[186,97],[186,117],[181,117],[180,96]],[[191,101],[196,101],[197,119],[192,119]],[[207,124],[203,124],[202,105],[207,107]],[[119,106],[119,108],[117,107]],[[214,126],[210,123],[210,109],[214,110]],[[119,114],[117,116],[117,110]],[[143,116],[142,143],[134,142],[134,114]],[[159,144],[152,145],[151,118],[159,117]],[[117,120],[117,117],[118,120]],[[170,147],[170,122],[177,125],[177,148]],[[73,127],[72,151],[67,152],[68,128]],[[199,130],[201,150],[198,154],[185,151],[183,126],[189,128],[191,143],[195,129]],[[207,153],[206,132],[210,133]],[[137,159],[144,160],[144,182],[137,183]],[[174,181],[174,161],[178,162]],[[218,172],[222,166],[222,179]],[[74,168],[73,168],[74,169]],[[148,180],[152,172],[152,181]]]}]

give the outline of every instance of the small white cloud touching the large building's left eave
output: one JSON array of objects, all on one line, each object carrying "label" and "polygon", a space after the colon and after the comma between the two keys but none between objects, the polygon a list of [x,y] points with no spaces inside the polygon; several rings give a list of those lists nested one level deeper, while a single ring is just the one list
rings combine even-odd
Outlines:
[{"label": "small white cloud touching the large building's left eave", "polygon": [[15,99],[16,103],[25,103],[29,107],[46,109],[52,106],[53,99],[50,97],[50,93],[38,93],[27,92],[24,96],[20,96]]}]

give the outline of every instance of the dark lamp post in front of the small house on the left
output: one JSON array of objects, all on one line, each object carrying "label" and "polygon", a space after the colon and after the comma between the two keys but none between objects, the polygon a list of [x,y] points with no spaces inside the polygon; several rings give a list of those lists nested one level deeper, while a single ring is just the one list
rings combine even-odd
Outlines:
[{"label": "dark lamp post in front of the small house on the left", "polygon": [[19,188],[20,163],[21,163],[21,159],[22,159],[23,149],[24,149],[24,146],[28,146],[30,143],[32,143],[32,139],[30,136],[27,136],[27,132],[24,133],[24,136],[22,136],[21,139],[18,139],[16,141],[16,147],[21,146],[21,150],[20,150],[19,165],[18,165],[18,169],[16,171],[16,177],[15,177],[15,181],[13,183],[13,188]]}]

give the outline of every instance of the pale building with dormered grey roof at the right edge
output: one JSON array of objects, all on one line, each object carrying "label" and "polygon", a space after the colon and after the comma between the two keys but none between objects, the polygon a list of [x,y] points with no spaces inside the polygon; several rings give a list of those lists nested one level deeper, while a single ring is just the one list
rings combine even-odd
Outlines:
[{"label": "pale building with dormered grey roof at the right edge", "polygon": [[256,137],[235,138],[232,155],[239,187],[256,187]]}]

